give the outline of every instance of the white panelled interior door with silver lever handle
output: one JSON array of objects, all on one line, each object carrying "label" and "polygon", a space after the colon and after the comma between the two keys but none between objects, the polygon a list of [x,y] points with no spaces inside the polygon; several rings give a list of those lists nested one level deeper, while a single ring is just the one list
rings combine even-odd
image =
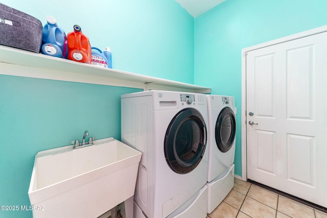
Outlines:
[{"label": "white panelled interior door with silver lever handle", "polygon": [[247,53],[248,179],[327,207],[326,96],[326,32]]}]

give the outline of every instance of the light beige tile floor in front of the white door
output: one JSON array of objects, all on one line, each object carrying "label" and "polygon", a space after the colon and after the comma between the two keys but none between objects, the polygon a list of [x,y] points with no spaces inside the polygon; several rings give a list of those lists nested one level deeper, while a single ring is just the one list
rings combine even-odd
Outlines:
[{"label": "light beige tile floor in front of the white door", "polygon": [[264,188],[234,180],[234,187],[207,218],[327,218],[327,213]]}]

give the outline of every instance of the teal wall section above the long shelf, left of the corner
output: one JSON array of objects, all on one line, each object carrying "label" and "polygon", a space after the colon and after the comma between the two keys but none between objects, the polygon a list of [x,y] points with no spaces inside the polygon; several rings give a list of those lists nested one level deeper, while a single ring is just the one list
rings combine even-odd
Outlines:
[{"label": "teal wall section above the long shelf, left of the corner", "polygon": [[38,18],[42,25],[51,15],[66,34],[79,25],[91,46],[110,47],[115,69],[194,82],[194,19],[174,0],[1,2]]}]

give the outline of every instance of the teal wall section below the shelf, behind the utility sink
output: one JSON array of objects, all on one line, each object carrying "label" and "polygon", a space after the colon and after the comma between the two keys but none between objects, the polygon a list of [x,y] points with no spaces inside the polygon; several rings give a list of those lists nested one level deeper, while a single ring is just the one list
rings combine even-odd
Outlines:
[{"label": "teal wall section below the shelf, behind the utility sink", "polygon": [[[120,94],[138,89],[0,75],[0,205],[30,205],[35,154],[69,145],[85,130],[120,139]],[[81,160],[83,161],[83,160]],[[31,217],[1,211],[0,217]]]}]

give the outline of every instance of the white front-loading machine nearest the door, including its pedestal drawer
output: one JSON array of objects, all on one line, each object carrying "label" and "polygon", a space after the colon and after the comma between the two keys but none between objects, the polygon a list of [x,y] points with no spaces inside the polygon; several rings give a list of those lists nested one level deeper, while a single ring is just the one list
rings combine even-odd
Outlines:
[{"label": "white front-loading machine nearest the door, including its pedestal drawer", "polygon": [[211,213],[234,186],[236,107],[232,96],[206,95],[208,105],[208,207]]}]

